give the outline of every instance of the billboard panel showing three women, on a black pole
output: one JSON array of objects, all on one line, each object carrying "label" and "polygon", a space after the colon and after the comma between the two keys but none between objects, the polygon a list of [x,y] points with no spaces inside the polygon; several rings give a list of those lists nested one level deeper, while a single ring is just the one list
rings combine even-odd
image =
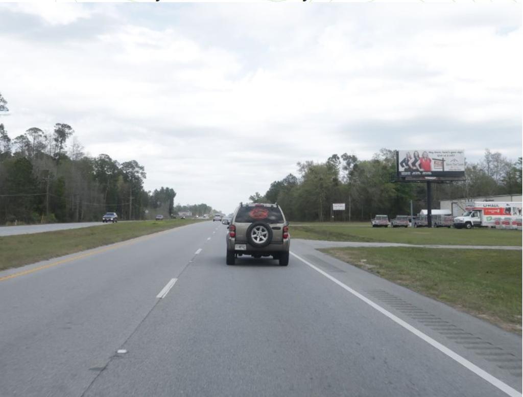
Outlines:
[{"label": "billboard panel showing three women, on a black pole", "polygon": [[465,177],[463,150],[398,150],[397,177],[404,180],[459,180]]}]

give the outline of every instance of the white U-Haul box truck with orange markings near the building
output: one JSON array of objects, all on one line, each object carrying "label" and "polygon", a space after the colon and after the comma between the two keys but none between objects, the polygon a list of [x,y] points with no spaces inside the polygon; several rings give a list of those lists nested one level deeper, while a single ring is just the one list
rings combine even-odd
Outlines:
[{"label": "white U-Haul box truck with orange markings near the building", "polygon": [[516,201],[474,201],[465,205],[466,212],[454,218],[454,228],[472,229],[474,226],[496,226],[499,222],[511,222],[521,218],[521,202]]}]

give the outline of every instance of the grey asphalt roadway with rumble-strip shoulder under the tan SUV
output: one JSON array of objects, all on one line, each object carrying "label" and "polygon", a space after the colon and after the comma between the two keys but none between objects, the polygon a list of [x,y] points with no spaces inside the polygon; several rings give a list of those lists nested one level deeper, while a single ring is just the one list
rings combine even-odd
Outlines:
[{"label": "grey asphalt roadway with rumble-strip shoulder under the tan SUV", "polygon": [[1,272],[0,394],[520,395],[520,336],[306,241],[288,267],[227,266],[225,233],[201,222]]}]

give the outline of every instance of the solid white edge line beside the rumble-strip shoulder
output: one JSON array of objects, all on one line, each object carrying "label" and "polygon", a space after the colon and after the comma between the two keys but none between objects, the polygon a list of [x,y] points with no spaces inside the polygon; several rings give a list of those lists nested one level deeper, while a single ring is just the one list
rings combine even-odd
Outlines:
[{"label": "solid white edge line beside the rumble-strip shoulder", "polygon": [[419,331],[417,328],[413,327],[411,324],[408,324],[407,322],[403,321],[402,319],[400,319],[400,317],[395,316],[394,314],[392,314],[388,310],[382,308],[379,304],[374,303],[370,299],[364,297],[359,292],[356,292],[354,289],[346,286],[343,282],[341,282],[338,279],[332,277],[331,275],[325,273],[325,271],[317,268],[313,264],[307,262],[305,259],[303,259],[303,258],[299,257],[298,255],[294,254],[293,252],[291,252],[290,254],[292,256],[298,258],[299,260],[301,260],[301,262],[303,262],[305,265],[308,265],[308,266],[312,267],[314,270],[316,270],[318,273],[324,275],[329,280],[334,281],[338,286],[340,286],[343,289],[347,290],[348,292],[353,294],[355,297],[361,299],[363,302],[367,303],[372,308],[374,308],[374,309],[378,310],[380,313],[386,315],[387,317],[389,317],[389,319],[394,321],[396,324],[401,325],[407,331],[410,331],[414,335],[419,337],[420,339],[423,339],[429,345],[431,345],[431,346],[435,347],[436,349],[438,349],[439,351],[441,351],[441,353],[446,354],[447,356],[452,358],[454,361],[459,362],[459,364],[461,364],[463,367],[465,367],[465,368],[469,369],[470,371],[474,372],[477,376],[480,376],[481,378],[486,380],[488,383],[491,383],[492,385],[494,385],[499,390],[505,392],[506,394],[510,395],[511,397],[521,397],[521,393],[518,392],[516,389],[511,388],[508,384],[506,384],[503,381],[501,381],[501,380],[497,379],[496,377],[492,376],[490,373],[486,372],[485,370],[481,369],[480,367],[476,366],[475,364],[472,364],[472,362],[470,362],[466,358],[461,357],[459,354],[455,353],[454,351],[452,351],[448,347],[446,347],[446,346],[442,345],[441,343],[435,341],[435,339],[433,339],[430,336],[428,336],[428,335],[424,334],[423,332]]}]

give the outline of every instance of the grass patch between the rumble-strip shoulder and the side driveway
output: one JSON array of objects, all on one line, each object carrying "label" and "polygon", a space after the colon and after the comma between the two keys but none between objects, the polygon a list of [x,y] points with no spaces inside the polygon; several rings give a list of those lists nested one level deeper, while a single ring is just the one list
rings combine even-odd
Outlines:
[{"label": "grass patch between the rumble-strip shoulder and the side driveway", "polygon": [[521,333],[520,251],[411,247],[321,251]]}]

